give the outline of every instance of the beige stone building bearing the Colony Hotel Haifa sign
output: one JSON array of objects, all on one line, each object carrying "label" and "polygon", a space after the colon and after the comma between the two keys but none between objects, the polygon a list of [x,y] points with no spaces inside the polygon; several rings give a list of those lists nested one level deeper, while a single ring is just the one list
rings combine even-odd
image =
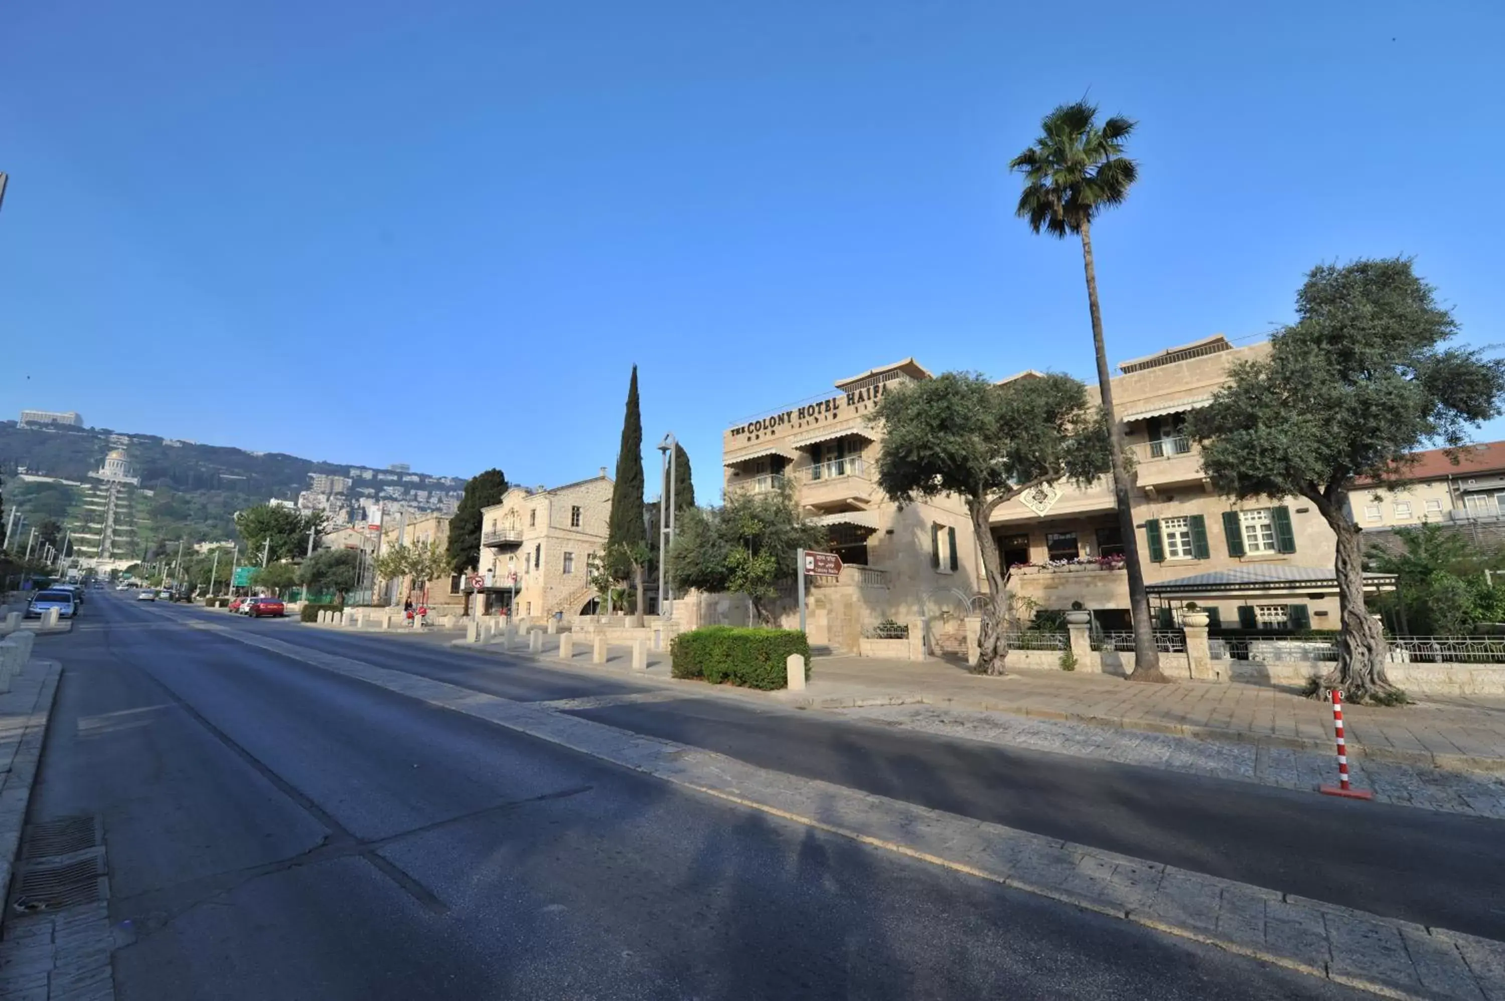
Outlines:
[{"label": "beige stone building bearing the Colony Hotel Haifa sign", "polygon": [[[978,549],[962,501],[941,497],[900,510],[876,482],[880,431],[870,420],[873,408],[885,391],[929,378],[905,358],[838,379],[837,391],[814,403],[722,435],[724,489],[789,485],[802,512],[826,527],[829,548],[844,563],[837,580],[810,578],[807,626],[814,644],[856,649],[864,628],[885,619],[908,623],[941,608],[956,611],[960,622],[977,593]],[[676,617],[686,625],[712,617],[692,604],[682,616],[680,605]],[[799,610],[786,601],[780,616],[784,625],[798,625]]]}]

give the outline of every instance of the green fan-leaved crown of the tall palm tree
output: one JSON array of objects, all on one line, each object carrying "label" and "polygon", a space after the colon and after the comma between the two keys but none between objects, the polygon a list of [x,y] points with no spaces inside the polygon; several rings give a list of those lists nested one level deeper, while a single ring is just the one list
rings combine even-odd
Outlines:
[{"label": "green fan-leaved crown of the tall palm tree", "polygon": [[1040,120],[1040,138],[1008,163],[1025,176],[1014,214],[1037,233],[1066,238],[1121,205],[1139,176],[1124,157],[1133,126],[1120,116],[1097,125],[1097,107],[1087,101],[1057,107]]}]

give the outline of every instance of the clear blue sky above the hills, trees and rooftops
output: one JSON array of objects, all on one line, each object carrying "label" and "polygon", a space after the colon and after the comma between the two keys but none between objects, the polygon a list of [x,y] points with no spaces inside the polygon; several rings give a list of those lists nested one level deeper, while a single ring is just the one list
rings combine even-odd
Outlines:
[{"label": "clear blue sky above the hills, trees and rooftops", "polygon": [[12,6],[0,414],[560,483],[637,361],[649,482],[674,431],[715,497],[722,429],[876,364],[1091,373],[1005,169],[1082,93],[1139,119],[1114,360],[1362,254],[1500,340],[1505,5],[1091,8]]}]

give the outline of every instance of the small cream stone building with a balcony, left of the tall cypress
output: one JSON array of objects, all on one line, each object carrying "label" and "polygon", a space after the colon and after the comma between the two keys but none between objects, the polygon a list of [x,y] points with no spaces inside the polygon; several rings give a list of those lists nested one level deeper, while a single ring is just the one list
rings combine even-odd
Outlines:
[{"label": "small cream stone building with a balcony, left of the tall cypress", "polygon": [[593,611],[590,575],[607,548],[611,486],[602,467],[588,480],[552,489],[513,486],[500,504],[482,509],[482,611],[537,619]]}]

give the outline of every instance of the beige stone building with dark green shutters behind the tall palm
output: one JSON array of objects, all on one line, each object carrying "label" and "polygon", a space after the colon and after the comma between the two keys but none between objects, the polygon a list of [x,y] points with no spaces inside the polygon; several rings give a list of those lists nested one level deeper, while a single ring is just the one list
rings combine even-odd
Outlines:
[{"label": "beige stone building with dark green shutters behind the tall palm", "polygon": [[[1269,349],[1236,348],[1219,334],[1118,366],[1114,408],[1135,458],[1133,522],[1157,625],[1175,625],[1195,602],[1213,629],[1338,626],[1335,537],[1321,515],[1300,497],[1221,497],[1184,434],[1187,414],[1212,402],[1228,366]],[[1132,628],[1111,477],[1087,489],[1035,489],[1002,504],[992,524],[1025,613],[1081,602],[1096,628]]]}]

